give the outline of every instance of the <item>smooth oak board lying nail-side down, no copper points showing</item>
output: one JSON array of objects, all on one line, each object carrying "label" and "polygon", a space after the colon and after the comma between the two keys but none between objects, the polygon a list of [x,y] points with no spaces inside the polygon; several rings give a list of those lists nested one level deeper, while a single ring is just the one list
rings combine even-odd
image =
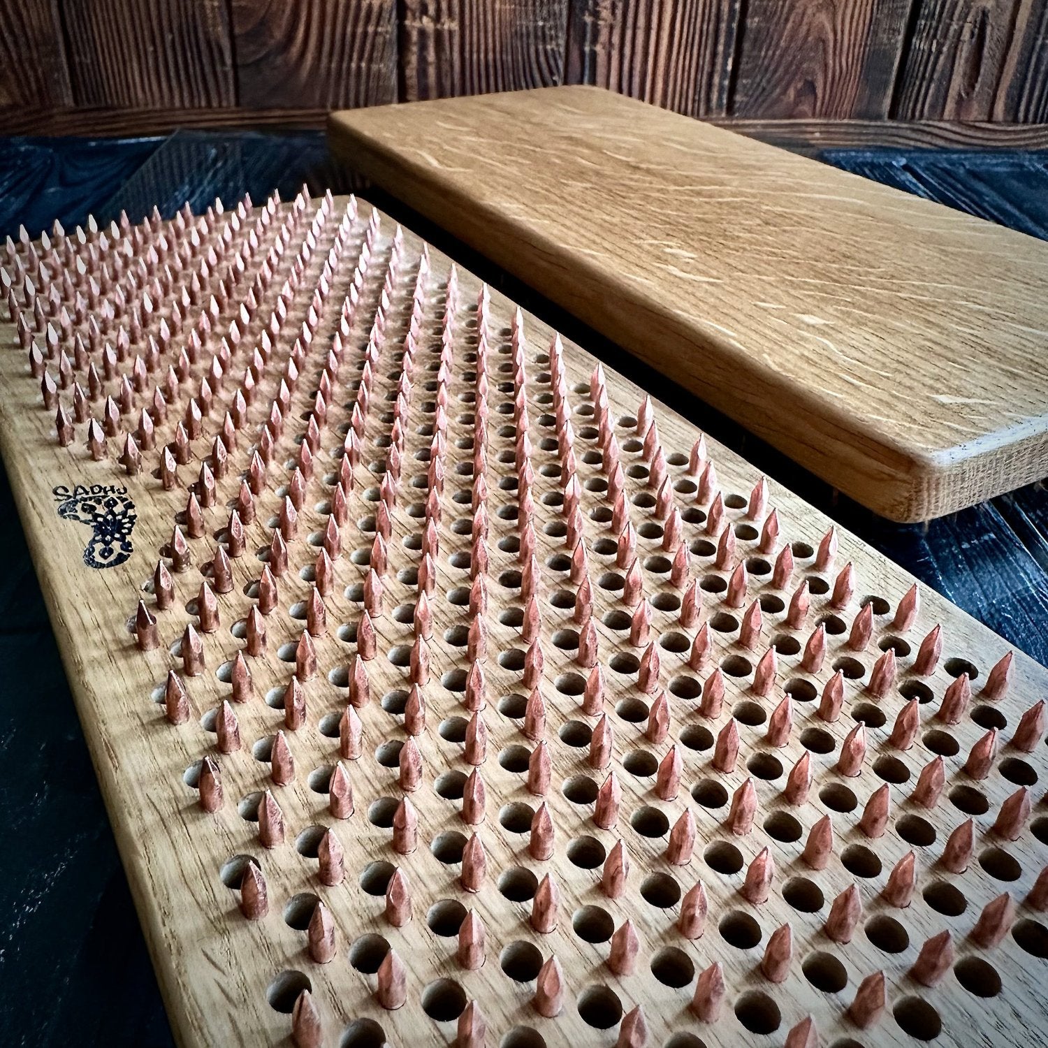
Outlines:
[{"label": "smooth oak board lying nail-side down, no copper points showing", "polygon": [[336,113],[334,148],[870,508],[1040,479],[1048,247],[591,88]]}]

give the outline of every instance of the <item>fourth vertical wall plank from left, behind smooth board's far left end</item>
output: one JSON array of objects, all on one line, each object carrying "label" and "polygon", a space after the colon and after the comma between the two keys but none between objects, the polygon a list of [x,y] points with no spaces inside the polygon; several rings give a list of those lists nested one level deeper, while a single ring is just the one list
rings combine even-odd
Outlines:
[{"label": "fourth vertical wall plank from left, behind smooth board's far left end", "polygon": [[562,83],[567,14],[568,0],[403,0],[402,101]]}]

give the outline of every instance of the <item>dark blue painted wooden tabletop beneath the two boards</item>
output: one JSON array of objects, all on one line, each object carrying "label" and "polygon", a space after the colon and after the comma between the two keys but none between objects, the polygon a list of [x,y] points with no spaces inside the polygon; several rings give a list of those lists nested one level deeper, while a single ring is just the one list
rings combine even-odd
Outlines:
[{"label": "dark blue painted wooden tabletop beneath the two boards", "polygon": [[[829,162],[1048,238],[1048,156],[834,151]],[[201,134],[165,140],[8,139],[0,148],[0,236],[154,203],[346,189],[318,134]],[[386,201],[383,201],[385,204]],[[422,225],[423,223],[417,223]],[[429,228],[419,232],[446,244]],[[468,252],[447,244],[466,264]],[[495,280],[494,274],[484,274]],[[498,280],[528,299],[525,288]],[[555,311],[541,308],[551,314]],[[578,334],[564,319],[562,327]],[[649,372],[584,340],[640,385]],[[659,389],[665,383],[659,379]],[[827,510],[924,583],[1048,664],[1048,498],[1029,487],[930,526],[897,526],[838,499],[810,474],[681,391],[674,407]],[[6,478],[0,474],[0,1044],[172,1044]]]}]

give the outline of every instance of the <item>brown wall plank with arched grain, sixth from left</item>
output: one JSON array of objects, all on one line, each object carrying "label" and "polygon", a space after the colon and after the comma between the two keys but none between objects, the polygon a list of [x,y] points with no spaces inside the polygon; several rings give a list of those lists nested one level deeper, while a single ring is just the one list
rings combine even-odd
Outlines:
[{"label": "brown wall plank with arched grain, sixth from left", "polygon": [[732,112],[888,115],[911,0],[749,0]]}]

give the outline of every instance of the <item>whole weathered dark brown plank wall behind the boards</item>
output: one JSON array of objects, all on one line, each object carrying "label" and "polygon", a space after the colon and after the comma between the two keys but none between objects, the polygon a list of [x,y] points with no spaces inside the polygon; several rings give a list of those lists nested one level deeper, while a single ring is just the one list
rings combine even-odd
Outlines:
[{"label": "whole weathered dark brown plank wall behind the boards", "polygon": [[560,83],[755,127],[1048,123],[1048,0],[0,0],[0,26],[8,133]]}]

